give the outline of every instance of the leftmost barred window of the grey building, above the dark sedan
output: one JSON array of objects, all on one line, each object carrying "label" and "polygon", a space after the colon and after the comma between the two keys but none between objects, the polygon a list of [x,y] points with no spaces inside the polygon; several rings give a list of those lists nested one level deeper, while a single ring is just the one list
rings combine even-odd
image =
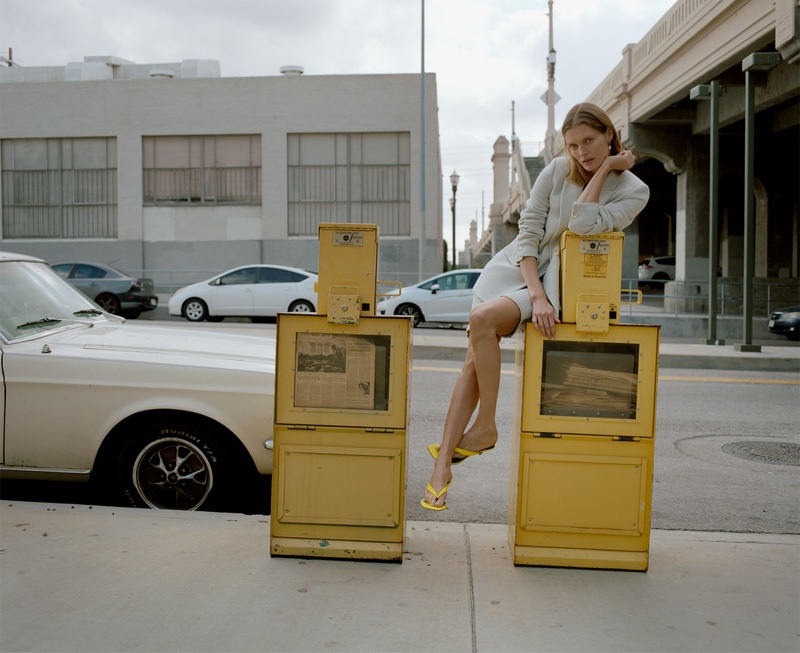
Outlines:
[{"label": "leftmost barred window of the grey building, above the dark sedan", "polygon": [[3,140],[4,238],[116,238],[114,138]]}]

